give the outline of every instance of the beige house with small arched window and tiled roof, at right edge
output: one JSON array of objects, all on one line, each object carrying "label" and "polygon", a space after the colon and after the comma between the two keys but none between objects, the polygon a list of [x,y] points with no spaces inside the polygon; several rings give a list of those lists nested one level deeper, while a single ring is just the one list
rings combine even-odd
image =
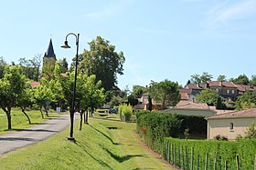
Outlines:
[{"label": "beige house with small arched window and tiled roof, at right edge", "polygon": [[208,140],[216,135],[224,135],[229,140],[235,140],[238,135],[245,135],[251,122],[256,122],[256,109],[247,109],[227,114],[214,115],[208,120]]}]

